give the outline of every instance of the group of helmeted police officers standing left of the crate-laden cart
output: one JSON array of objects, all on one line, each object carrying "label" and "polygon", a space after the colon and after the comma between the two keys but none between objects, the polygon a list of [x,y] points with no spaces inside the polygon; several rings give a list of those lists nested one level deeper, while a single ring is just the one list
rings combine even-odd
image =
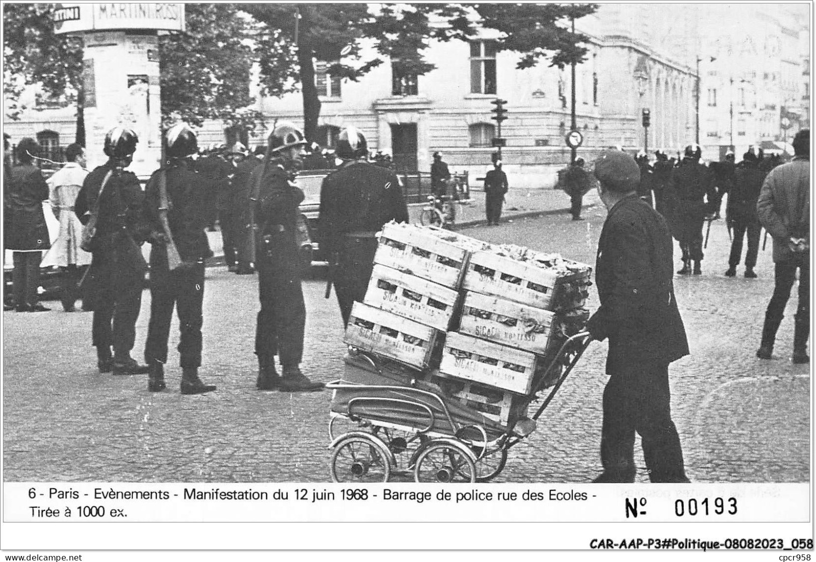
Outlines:
[{"label": "group of helmeted police officers standing left of the crate-laden cart", "polygon": [[[166,159],[144,192],[131,164],[138,139],[115,127],[104,141],[108,162],[87,175],[75,212],[86,225],[93,254],[82,281],[86,308],[94,313],[92,343],[101,373],[148,373],[150,392],[166,388],[164,365],[171,316],[180,321],[182,394],[215,390],[198,377],[202,361],[204,260],[212,255],[206,228],[220,215],[230,271],[258,273],[260,310],[255,331],[256,387],[262,391],[312,392],[323,388],[300,370],[306,309],[301,288],[305,263],[298,206],[304,192],[295,175],[306,140],[290,124],[277,124],[263,159],[233,146],[224,158],[202,158],[195,133],[184,123],[165,135]],[[336,156],[343,165],[326,177],[321,192],[318,242],[330,256],[331,282],[344,324],[362,300],[370,277],[375,233],[391,220],[408,220],[406,202],[391,170],[366,161],[366,138],[354,127],[341,131]],[[91,236],[92,235],[92,236]],[[147,264],[140,246],[151,244],[150,321],[144,360],[131,357]],[[280,373],[275,365],[279,360]]]}]

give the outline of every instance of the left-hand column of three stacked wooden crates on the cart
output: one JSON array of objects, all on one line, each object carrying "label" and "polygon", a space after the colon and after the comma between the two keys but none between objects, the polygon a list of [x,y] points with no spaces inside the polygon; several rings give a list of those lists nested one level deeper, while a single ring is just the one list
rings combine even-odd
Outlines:
[{"label": "left-hand column of three stacked wooden crates on the cart", "polygon": [[366,297],[354,303],[344,342],[417,370],[437,367],[468,259],[483,247],[453,232],[386,224]]}]

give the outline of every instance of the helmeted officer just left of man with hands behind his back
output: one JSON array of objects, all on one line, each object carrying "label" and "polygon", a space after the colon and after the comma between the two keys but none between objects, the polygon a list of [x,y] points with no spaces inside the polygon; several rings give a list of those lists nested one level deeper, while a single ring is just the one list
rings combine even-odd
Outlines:
[{"label": "helmeted officer just left of man with hands behind his back", "polygon": [[756,154],[749,150],[743,155],[743,165],[734,170],[734,177],[728,190],[728,205],[725,207],[725,220],[730,230],[734,231],[731,241],[731,254],[728,258],[728,270],[725,277],[737,274],[739,259],[743,254],[743,238],[748,234],[748,250],[745,254],[745,277],[756,278],[754,266],[756,255],[760,250],[760,219],[756,215],[756,200],[760,197],[765,172],[757,166]]}]

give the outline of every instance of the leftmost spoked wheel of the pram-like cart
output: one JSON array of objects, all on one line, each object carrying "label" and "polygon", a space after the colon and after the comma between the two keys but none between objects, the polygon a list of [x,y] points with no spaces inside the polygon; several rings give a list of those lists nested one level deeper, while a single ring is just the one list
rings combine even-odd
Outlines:
[{"label": "leftmost spoked wheel of the pram-like cart", "polygon": [[340,441],[331,453],[333,482],[388,482],[391,464],[375,437],[353,436]]}]

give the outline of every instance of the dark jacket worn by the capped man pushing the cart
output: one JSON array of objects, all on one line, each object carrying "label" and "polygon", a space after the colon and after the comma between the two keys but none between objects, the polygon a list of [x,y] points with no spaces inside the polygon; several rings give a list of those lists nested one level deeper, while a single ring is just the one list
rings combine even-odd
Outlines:
[{"label": "dark jacket worn by the capped man pushing the cart", "polygon": [[635,194],[616,203],[598,241],[601,308],[590,320],[593,334],[609,337],[610,360],[671,363],[689,354],[672,269],[672,236],[663,216]]}]

